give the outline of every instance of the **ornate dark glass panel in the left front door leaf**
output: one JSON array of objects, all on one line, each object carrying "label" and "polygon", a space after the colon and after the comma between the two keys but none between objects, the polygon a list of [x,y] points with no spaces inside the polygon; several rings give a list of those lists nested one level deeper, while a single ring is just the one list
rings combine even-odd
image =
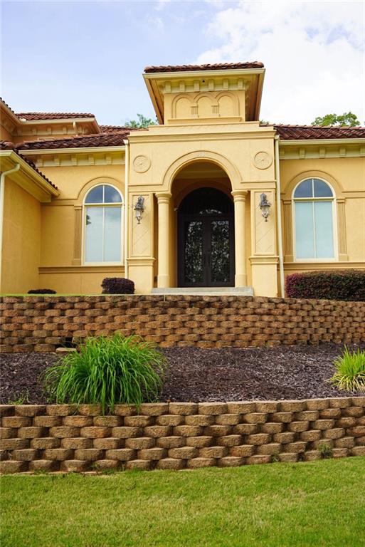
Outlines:
[{"label": "ornate dark glass panel in the left front door leaf", "polygon": [[184,222],[184,282],[203,283],[203,222]]}]

